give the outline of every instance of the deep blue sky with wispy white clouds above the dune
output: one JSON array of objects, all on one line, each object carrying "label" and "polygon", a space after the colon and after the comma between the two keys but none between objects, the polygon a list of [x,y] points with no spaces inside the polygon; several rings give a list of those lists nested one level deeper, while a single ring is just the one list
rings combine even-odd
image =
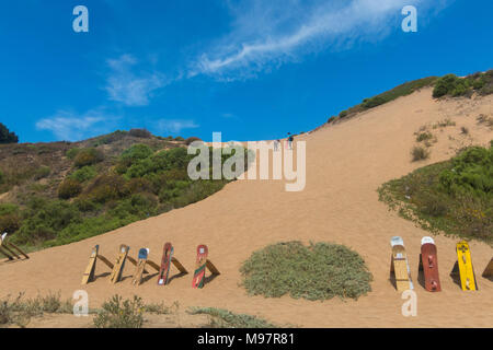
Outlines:
[{"label": "deep blue sky with wispy white clouds above the dune", "polygon": [[[76,33],[76,5],[89,33]],[[404,33],[401,9],[417,9]],[[0,7],[0,121],[21,142],[116,129],[259,140],[400,83],[493,68],[491,0],[19,0]]]}]

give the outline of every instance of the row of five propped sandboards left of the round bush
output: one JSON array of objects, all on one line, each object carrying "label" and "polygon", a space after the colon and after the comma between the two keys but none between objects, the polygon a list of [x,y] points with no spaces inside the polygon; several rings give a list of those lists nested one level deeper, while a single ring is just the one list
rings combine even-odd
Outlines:
[{"label": "row of five propped sandboards left of the round bush", "polygon": [[[88,284],[89,282],[94,280],[95,277],[95,266],[96,260],[100,259],[107,267],[112,269],[110,273],[110,282],[116,283],[122,280],[122,273],[125,267],[125,261],[129,260],[133,265],[135,265],[135,272],[131,279],[131,284],[139,285],[142,283],[144,273],[147,273],[146,267],[149,266],[158,271],[158,284],[165,285],[170,281],[170,268],[171,264],[173,264],[180,275],[186,275],[188,271],[183,267],[183,265],[173,256],[174,248],[171,243],[165,243],[161,259],[161,266],[150,260],[149,249],[140,248],[138,253],[137,260],[128,255],[130,247],[122,244],[118,249],[118,255],[116,257],[115,264],[112,264],[108,259],[106,259],[103,255],[99,254],[99,245],[96,245],[91,253],[89,258],[89,265],[85,269],[85,272],[82,277],[82,284]],[[206,268],[213,275],[219,275],[218,269],[214,266],[214,264],[207,258],[208,257],[208,248],[206,245],[199,245],[197,247],[197,258],[196,266],[194,271],[194,278],[192,280],[193,288],[203,288],[205,283],[205,272]]]}]

